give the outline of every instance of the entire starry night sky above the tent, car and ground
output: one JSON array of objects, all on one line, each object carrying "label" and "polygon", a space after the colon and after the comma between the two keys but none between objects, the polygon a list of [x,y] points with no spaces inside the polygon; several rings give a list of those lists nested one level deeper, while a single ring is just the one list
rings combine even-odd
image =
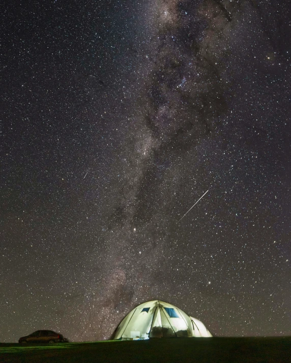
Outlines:
[{"label": "entire starry night sky above the tent, car and ground", "polygon": [[214,336],[290,335],[288,2],[1,17],[0,341],[108,339],[154,299]]}]

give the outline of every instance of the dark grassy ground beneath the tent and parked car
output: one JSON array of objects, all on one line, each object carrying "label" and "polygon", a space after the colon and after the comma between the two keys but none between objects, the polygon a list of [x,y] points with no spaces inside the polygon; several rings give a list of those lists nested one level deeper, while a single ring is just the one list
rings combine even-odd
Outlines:
[{"label": "dark grassy ground beneath the tent and parked car", "polygon": [[169,338],[26,347],[0,344],[0,362],[291,363],[291,337]]}]

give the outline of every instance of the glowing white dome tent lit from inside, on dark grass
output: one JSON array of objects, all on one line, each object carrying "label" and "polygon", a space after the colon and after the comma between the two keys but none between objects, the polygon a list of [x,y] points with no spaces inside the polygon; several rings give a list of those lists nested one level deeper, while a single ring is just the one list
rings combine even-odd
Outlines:
[{"label": "glowing white dome tent lit from inside, on dark grass", "polygon": [[212,337],[205,325],[184,311],[159,300],[133,309],[118,325],[113,340],[138,340],[162,337]]}]

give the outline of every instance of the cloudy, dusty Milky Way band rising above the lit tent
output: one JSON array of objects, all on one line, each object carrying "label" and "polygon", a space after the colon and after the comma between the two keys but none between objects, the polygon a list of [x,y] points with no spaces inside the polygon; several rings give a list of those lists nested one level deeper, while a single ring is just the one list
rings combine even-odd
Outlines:
[{"label": "cloudy, dusty Milky Way band rising above the lit tent", "polygon": [[[191,173],[203,173],[196,164],[196,147],[201,140],[217,135],[220,117],[227,114],[230,37],[239,31],[249,11],[247,2],[239,6],[217,1],[162,1],[156,6],[150,69],[133,116],[132,127],[137,130],[130,134],[133,144],[128,142],[122,202],[114,207],[105,238],[110,263],[103,304],[111,311],[156,295],[162,298],[164,289],[175,290],[181,284],[188,288],[188,281],[196,280],[196,269],[190,268],[192,278],[187,276],[191,262],[186,266],[183,262],[187,277],[181,276],[177,262],[172,262],[171,251],[176,246],[185,248],[185,240],[187,247],[179,253],[180,258],[189,256],[193,261],[197,244],[195,230],[181,232],[183,227],[176,221],[184,212],[182,207],[194,201],[191,195],[198,195],[211,184],[217,187],[212,178],[202,182],[201,176]],[[197,184],[200,189],[194,190]],[[212,269],[211,262],[210,266]],[[172,276],[173,283],[167,287],[169,273],[180,275],[180,281],[175,283],[177,277]],[[208,283],[207,277],[204,280]],[[179,294],[183,296],[183,290]],[[107,309],[104,315],[114,325],[116,319],[108,317]]]}]

